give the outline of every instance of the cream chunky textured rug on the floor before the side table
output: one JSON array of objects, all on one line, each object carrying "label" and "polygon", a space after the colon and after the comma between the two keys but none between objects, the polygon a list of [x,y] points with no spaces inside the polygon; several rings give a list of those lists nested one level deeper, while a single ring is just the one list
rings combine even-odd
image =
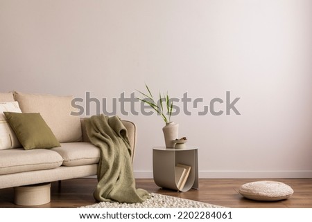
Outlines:
[{"label": "cream chunky textured rug on the floor before the side table", "polygon": [[150,194],[143,203],[100,202],[80,208],[225,208],[219,205],[192,201],[162,194]]}]

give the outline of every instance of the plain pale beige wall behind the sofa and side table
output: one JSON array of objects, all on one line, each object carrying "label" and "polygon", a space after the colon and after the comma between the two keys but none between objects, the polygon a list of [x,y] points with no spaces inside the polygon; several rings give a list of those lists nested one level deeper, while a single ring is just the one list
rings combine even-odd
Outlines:
[{"label": "plain pale beige wall behind the sofa and side table", "polygon": [[[205,105],[231,91],[241,115],[173,117],[200,177],[311,177],[311,17],[309,0],[0,0],[0,87],[112,103],[147,83]],[[161,118],[121,118],[137,123],[136,176],[152,177]]]}]

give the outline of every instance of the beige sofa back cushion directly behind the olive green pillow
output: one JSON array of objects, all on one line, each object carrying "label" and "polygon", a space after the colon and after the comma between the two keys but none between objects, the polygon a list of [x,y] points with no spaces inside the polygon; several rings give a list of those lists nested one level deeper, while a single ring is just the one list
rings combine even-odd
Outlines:
[{"label": "beige sofa back cushion directly behind the olive green pillow", "polygon": [[78,142],[83,138],[80,118],[71,115],[73,96],[14,92],[23,113],[40,113],[59,142]]}]

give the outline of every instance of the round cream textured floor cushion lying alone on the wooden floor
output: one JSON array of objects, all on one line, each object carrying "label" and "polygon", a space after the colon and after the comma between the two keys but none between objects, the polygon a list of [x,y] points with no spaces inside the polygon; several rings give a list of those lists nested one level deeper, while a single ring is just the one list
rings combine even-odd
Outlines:
[{"label": "round cream textured floor cushion lying alone on the wooden floor", "polygon": [[280,201],[293,195],[293,189],[277,181],[256,181],[241,185],[239,193],[255,201]]}]

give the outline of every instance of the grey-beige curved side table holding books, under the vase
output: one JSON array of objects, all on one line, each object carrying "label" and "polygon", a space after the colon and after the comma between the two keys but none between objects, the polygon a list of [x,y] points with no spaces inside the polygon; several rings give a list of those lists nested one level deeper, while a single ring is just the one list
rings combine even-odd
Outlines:
[{"label": "grey-beige curved side table holding books, under the vase", "polygon": [[[178,189],[175,182],[175,166],[177,164],[191,166],[191,172],[182,189]],[[187,192],[198,189],[198,147],[173,149],[166,147],[153,148],[153,176],[156,185]]]}]

